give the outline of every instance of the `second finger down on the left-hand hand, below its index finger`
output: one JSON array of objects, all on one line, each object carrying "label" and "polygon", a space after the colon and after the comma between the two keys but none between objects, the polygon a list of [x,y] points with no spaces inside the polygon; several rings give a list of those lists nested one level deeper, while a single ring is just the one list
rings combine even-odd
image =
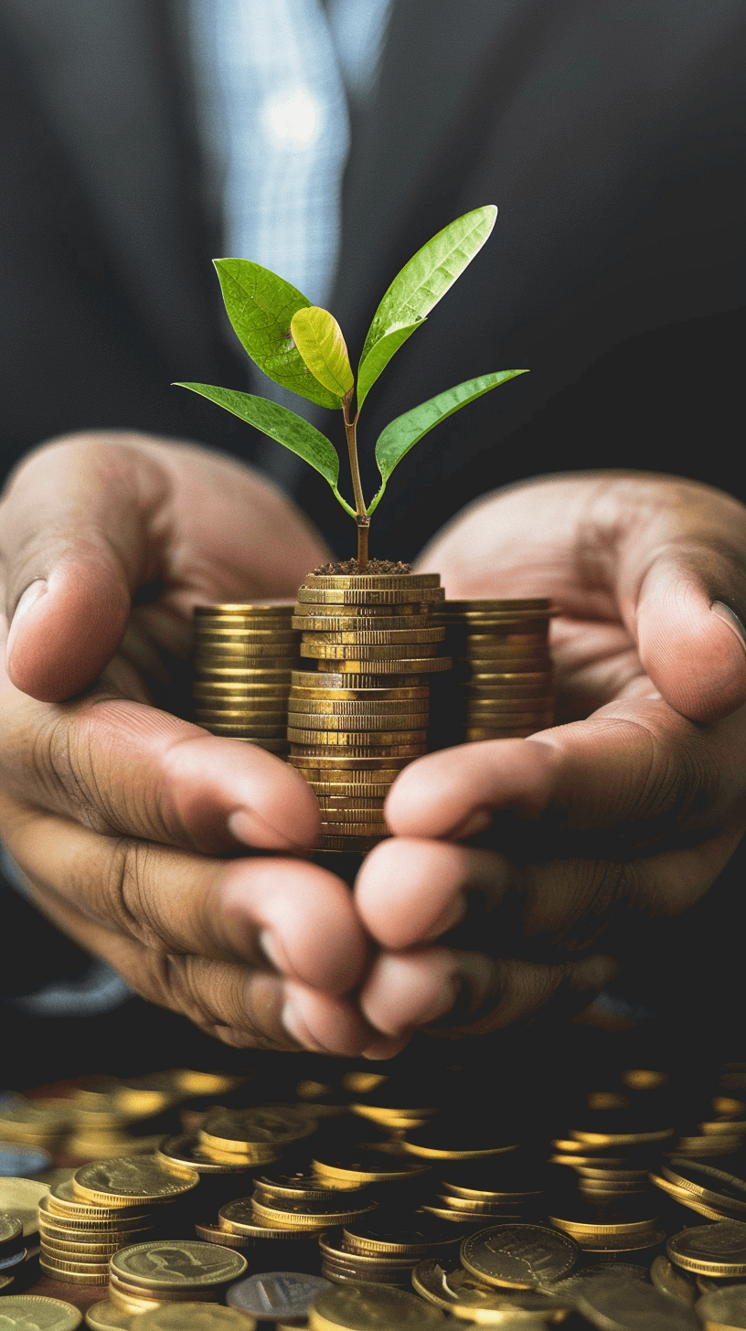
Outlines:
[{"label": "second finger down on the left-hand hand, below its index finger", "polygon": [[214,860],[103,837],[0,796],[4,840],[49,897],[153,957],[201,956],[266,968],[348,993],[368,962],[346,884],[318,865],[266,856]]}]

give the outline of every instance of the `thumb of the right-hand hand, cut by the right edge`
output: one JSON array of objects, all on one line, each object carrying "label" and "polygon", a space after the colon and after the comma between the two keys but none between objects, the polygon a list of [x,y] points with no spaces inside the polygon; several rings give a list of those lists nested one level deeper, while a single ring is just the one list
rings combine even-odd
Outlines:
[{"label": "thumb of the right-hand hand, cut by the right edge", "polygon": [[637,600],[638,652],[677,712],[717,721],[746,703],[745,616],[743,575],[711,544],[653,559]]}]

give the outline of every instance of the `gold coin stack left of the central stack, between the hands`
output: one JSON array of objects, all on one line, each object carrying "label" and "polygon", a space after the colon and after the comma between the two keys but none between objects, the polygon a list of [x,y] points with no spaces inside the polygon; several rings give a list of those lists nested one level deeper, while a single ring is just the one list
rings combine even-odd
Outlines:
[{"label": "gold coin stack left of the central stack, between the hands", "polygon": [[194,720],[212,735],[288,752],[292,612],[289,602],[194,608]]}]

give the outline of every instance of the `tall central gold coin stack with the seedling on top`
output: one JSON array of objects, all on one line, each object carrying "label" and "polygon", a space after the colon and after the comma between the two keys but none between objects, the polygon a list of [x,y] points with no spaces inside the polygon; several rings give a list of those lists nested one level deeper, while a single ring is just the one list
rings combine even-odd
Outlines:
[{"label": "tall central gold coin stack with the seedling on top", "polygon": [[432,611],[437,574],[312,574],[298,590],[293,627],[290,763],[321,805],[322,851],[365,852],[386,836],[384,800],[400,771],[426,752],[430,675],[445,630]]}]

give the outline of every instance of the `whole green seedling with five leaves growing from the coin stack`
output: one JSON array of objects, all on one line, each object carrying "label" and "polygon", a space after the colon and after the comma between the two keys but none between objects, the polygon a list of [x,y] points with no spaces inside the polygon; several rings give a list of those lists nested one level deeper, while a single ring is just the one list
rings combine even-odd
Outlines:
[{"label": "whole green seedling with five leaves growing from the coin stack", "polygon": [[[294,411],[234,389],[180,383],[256,426],[304,458],[329,482],[334,496],[357,523],[357,563],[368,567],[370,516],[398,462],[441,421],[525,370],[498,370],[457,383],[392,421],[376,442],[381,484],[365,503],[357,457],[357,425],[368,394],[394,353],[418,329],[488,240],[497,208],[488,204],[457,217],[433,236],[394,277],[368,330],[357,385],[342,330],[333,314],[312,305],[284,278],[244,258],[214,261],[228,318],[252,361],[274,383],[317,406],[342,411],[353,504],[338,490],[340,458],[326,435]],[[357,399],[357,401],[356,401]],[[356,406],[353,407],[353,403]]]}]

